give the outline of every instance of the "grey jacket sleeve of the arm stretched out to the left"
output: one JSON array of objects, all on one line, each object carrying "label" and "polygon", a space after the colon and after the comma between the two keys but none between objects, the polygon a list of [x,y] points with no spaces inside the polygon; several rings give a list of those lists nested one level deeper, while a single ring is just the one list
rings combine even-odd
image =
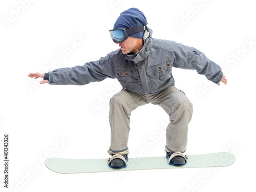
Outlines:
[{"label": "grey jacket sleeve of the arm stretched out to the left", "polygon": [[85,63],[83,66],[61,68],[49,72],[49,84],[84,85],[102,81],[105,78],[116,78],[113,65],[113,52],[97,61]]}]

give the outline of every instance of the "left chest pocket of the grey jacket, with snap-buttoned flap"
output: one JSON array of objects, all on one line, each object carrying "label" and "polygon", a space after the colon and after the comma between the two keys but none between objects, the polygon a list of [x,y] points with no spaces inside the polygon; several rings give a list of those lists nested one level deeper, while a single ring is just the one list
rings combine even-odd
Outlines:
[{"label": "left chest pocket of the grey jacket, with snap-buttoned flap", "polygon": [[140,78],[137,71],[116,69],[116,76],[123,88],[131,92],[141,93]]}]

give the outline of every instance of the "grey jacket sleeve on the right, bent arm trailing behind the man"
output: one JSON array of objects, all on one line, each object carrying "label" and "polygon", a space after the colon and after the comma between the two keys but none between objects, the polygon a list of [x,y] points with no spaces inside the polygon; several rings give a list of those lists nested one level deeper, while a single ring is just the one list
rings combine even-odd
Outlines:
[{"label": "grey jacket sleeve on the right, bent arm trailing behind the man", "polygon": [[174,63],[173,67],[181,69],[194,69],[198,74],[205,75],[206,78],[218,84],[223,72],[220,66],[208,59],[204,53],[193,47],[184,46],[173,42]]}]

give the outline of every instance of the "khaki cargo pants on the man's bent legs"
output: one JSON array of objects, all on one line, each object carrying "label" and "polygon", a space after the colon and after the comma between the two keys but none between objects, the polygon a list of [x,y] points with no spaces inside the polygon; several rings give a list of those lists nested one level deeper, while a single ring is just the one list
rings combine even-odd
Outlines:
[{"label": "khaki cargo pants on the man's bent legs", "polygon": [[122,90],[110,100],[110,151],[120,153],[128,151],[130,116],[138,106],[147,103],[157,104],[169,115],[166,128],[166,146],[171,152],[185,152],[187,145],[188,123],[193,114],[193,105],[185,94],[170,86],[157,94],[138,94]]}]

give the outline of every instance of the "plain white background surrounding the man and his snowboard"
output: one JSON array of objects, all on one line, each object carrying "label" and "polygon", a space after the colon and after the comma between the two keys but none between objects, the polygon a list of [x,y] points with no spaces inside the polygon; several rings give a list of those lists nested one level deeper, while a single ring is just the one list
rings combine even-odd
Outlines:
[{"label": "plain white background surrounding the man and his snowboard", "polygon": [[[108,102],[120,86],[116,79],[87,86],[40,85],[27,75],[84,65],[118,49],[108,30],[120,12],[131,7],[144,12],[154,38],[195,47],[223,68],[228,84],[219,87],[196,71],[173,69],[173,75],[176,87],[194,104],[187,154],[228,151],[236,155],[233,165],[69,175],[54,173],[44,165],[47,157],[109,157]],[[1,191],[254,188],[248,175],[248,170],[255,172],[256,157],[253,1],[20,0],[2,1],[0,13],[0,159],[4,159],[4,134],[8,133],[11,187],[4,188],[1,166]],[[67,57],[64,49],[69,50]],[[131,157],[164,156],[166,123],[168,116],[158,106],[135,110]]]}]

